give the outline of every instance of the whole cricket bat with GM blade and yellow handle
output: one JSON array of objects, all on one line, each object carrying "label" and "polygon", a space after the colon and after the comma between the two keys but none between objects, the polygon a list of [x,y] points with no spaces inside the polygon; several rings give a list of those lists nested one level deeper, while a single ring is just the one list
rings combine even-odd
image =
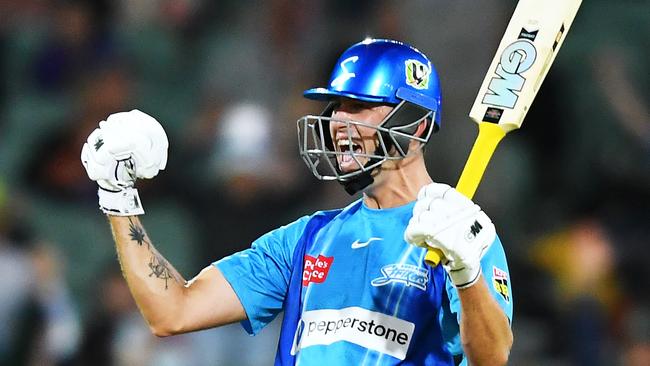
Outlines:
[{"label": "whole cricket bat with GM blade and yellow handle", "polygon": [[[472,198],[497,145],[521,127],[582,0],[519,0],[469,117],[478,124],[456,189]],[[429,249],[425,262],[442,259]]]}]

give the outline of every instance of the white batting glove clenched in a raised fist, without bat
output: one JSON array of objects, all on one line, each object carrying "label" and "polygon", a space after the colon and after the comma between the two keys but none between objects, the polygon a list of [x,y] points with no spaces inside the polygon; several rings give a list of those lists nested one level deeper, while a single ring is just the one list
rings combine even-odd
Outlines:
[{"label": "white batting glove clenched in a raised fist, without bat", "polygon": [[99,207],[109,215],[142,215],[137,178],[155,177],[167,164],[169,142],[153,117],[138,110],[111,114],[81,150],[81,162],[99,185]]}]

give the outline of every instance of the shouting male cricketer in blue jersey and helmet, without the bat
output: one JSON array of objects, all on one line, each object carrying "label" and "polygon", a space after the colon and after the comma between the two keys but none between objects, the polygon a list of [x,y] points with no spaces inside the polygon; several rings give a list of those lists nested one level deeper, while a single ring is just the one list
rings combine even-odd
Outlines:
[{"label": "shouting male cricketer in blue jersey and helmet, without the bat", "polygon": [[[273,230],[190,281],[138,217],[136,179],[166,165],[162,126],[133,110],[110,115],[88,137],[82,163],[99,184],[151,331],[241,322],[256,334],[284,311],[276,365],[507,363],[513,299],[494,225],[425,167],[441,102],[429,59],[401,42],[366,39],[341,55],[327,87],[304,95],[327,106],[298,120],[303,160],[362,198]],[[443,253],[442,265],[424,263],[429,247]]]}]

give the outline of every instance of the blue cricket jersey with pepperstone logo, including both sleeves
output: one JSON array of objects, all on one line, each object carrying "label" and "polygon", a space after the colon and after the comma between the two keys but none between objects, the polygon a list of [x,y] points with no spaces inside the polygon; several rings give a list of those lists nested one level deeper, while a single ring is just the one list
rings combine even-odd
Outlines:
[{"label": "blue cricket jersey with pepperstone logo, including both sleeves", "polygon": [[[257,333],[284,310],[276,365],[453,365],[462,357],[460,301],[442,266],[406,243],[410,204],[375,210],[358,200],[257,239],[215,265]],[[497,238],[481,261],[509,319],[512,291]]]}]

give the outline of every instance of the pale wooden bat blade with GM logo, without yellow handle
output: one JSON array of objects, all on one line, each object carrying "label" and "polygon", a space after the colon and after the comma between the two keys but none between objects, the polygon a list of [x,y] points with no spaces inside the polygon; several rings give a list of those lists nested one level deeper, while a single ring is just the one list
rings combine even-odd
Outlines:
[{"label": "pale wooden bat blade with GM logo, without yellow handle", "polygon": [[470,111],[475,122],[521,127],[582,0],[520,0]]}]

